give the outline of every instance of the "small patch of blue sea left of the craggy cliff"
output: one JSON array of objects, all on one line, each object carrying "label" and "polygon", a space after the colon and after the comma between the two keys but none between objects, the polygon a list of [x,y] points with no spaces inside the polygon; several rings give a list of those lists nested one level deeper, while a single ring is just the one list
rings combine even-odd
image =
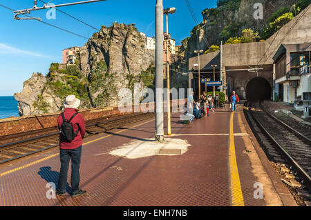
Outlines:
[{"label": "small patch of blue sea left of the craggy cliff", "polygon": [[0,97],[0,119],[19,117],[19,109],[14,97]]}]

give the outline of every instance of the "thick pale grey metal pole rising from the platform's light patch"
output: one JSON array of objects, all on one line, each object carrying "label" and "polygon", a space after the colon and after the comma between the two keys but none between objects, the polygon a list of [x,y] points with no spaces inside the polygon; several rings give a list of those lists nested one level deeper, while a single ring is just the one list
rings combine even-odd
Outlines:
[{"label": "thick pale grey metal pole rising from the platform's light patch", "polygon": [[163,130],[163,1],[156,0],[156,141],[164,141]]}]

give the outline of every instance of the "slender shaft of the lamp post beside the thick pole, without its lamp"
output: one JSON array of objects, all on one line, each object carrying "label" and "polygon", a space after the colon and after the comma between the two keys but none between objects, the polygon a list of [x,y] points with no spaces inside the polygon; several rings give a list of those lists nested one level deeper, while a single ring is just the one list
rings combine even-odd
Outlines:
[{"label": "slender shaft of the lamp post beside the thick pole, without its lamp", "polygon": [[[167,18],[167,36],[169,36],[169,14]],[[169,39],[171,39],[169,37]],[[167,135],[171,135],[171,87],[169,85],[169,39],[167,40]]]}]

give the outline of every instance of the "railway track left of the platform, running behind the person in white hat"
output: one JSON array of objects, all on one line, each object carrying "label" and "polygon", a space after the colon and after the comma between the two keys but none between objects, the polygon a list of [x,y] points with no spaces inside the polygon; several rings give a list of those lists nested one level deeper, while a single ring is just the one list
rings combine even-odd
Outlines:
[{"label": "railway track left of the platform, running behind the person in white hat", "polygon": [[[126,114],[124,116],[104,117],[86,121],[85,137],[100,134],[114,128],[120,128],[129,123],[149,119],[154,113]],[[59,146],[59,131],[57,128],[47,128],[21,134],[13,134],[0,139],[0,164],[26,157],[43,150]]]}]

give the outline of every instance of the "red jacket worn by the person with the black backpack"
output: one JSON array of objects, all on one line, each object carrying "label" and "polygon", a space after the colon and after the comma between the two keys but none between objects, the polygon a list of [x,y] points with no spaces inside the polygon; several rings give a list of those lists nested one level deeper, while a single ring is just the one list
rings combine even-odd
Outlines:
[{"label": "red jacket worn by the person with the black backpack", "polygon": [[[65,119],[69,120],[70,117],[72,117],[73,114],[75,114],[75,112],[77,111],[79,110],[75,108],[65,108],[65,111],[64,111]],[[84,135],[85,135],[85,122],[84,122],[84,118],[82,114],[77,114],[70,122],[73,124],[74,132],[77,132],[77,129],[79,128],[77,137],[75,137],[75,139],[73,139],[73,141],[71,141],[70,143],[59,141],[59,148],[75,149],[75,148],[79,148],[79,146],[82,146],[82,139],[84,138]],[[60,129],[63,123],[62,114],[59,114],[57,123],[58,123],[58,128]],[[76,123],[78,123],[78,125]]]}]

